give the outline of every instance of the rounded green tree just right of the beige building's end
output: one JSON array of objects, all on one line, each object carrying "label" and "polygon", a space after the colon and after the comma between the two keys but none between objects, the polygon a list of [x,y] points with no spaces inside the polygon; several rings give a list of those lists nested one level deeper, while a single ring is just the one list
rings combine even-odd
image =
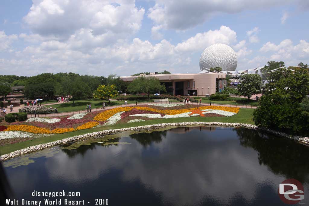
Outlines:
[{"label": "rounded green tree just right of the beige building's end", "polygon": [[259,94],[262,88],[262,78],[258,74],[244,74],[241,76],[237,89],[240,95],[250,97]]}]

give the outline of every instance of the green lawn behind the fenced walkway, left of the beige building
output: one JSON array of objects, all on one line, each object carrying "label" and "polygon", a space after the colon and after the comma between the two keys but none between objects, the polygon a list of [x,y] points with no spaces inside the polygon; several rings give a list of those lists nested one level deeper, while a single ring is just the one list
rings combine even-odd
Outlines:
[{"label": "green lawn behind the fenced walkway, left of the beige building", "polygon": [[[85,100],[75,100],[74,105],[73,101],[67,103],[59,103],[54,105],[47,105],[45,107],[53,107],[57,108],[58,112],[65,112],[65,111],[76,111],[76,110],[85,110],[87,104],[91,104],[91,108],[102,107],[103,102],[105,102],[106,106],[113,106],[117,104],[125,104],[125,101],[111,101],[108,103],[108,100],[101,100],[101,99],[85,99]],[[146,102],[146,100],[136,100],[136,101],[128,101],[128,104],[135,104],[136,102]],[[131,105],[128,105],[131,106]]]}]

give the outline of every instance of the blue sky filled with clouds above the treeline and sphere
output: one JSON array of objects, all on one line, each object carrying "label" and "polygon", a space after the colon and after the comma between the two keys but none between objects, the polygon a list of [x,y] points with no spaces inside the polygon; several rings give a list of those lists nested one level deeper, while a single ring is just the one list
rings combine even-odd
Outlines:
[{"label": "blue sky filled with clouds above the treeline and sphere", "polygon": [[6,0],[0,74],[198,73],[222,43],[237,69],[309,63],[308,0]]}]

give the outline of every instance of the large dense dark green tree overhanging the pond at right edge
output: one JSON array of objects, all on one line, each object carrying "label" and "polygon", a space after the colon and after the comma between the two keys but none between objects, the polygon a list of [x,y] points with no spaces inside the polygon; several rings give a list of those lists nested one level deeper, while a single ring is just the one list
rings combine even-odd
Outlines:
[{"label": "large dense dark green tree overhanging the pond at right edge", "polygon": [[309,93],[307,69],[292,72],[280,68],[270,74],[268,81],[260,105],[253,113],[255,124],[294,132],[308,130],[306,107],[302,106],[306,104],[304,98]]}]

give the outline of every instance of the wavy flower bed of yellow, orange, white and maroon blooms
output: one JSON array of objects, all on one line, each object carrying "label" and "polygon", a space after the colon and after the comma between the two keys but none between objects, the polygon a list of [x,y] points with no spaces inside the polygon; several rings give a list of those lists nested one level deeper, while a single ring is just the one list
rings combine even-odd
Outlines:
[{"label": "wavy flower bed of yellow, orange, white and maroon blooms", "polygon": [[[167,106],[168,105],[168,106]],[[190,116],[225,117],[239,112],[237,107],[218,107],[184,105],[184,104],[150,104],[141,107],[118,107],[104,111],[80,113],[60,118],[29,118],[26,122],[15,122],[0,126],[1,131],[20,131],[35,134],[61,134],[95,126],[117,123],[138,122],[158,118],[170,119]]]}]

